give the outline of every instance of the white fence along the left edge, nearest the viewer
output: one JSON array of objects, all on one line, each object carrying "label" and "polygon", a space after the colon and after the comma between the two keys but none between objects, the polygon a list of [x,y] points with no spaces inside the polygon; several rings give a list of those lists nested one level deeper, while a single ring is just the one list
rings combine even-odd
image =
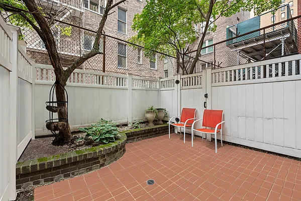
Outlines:
[{"label": "white fence along the left edge, nearest the viewer", "polygon": [[33,63],[18,31],[0,18],[0,200],[16,198],[16,162],[34,137]]}]

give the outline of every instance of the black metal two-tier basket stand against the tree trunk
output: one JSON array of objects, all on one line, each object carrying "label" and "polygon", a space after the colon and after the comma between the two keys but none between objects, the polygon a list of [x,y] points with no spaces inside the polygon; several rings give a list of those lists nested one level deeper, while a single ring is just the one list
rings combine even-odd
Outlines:
[{"label": "black metal two-tier basket stand against the tree trunk", "polygon": [[[66,101],[54,100],[54,93],[57,84],[64,88],[66,93]],[[60,110],[65,110],[65,107],[67,108],[67,119],[53,118],[53,113],[58,113]],[[50,89],[49,101],[46,102],[46,109],[49,111],[49,120],[46,120],[46,128],[50,130],[54,136],[58,136],[56,131],[60,131],[62,128],[66,129],[68,122],[68,93],[65,87],[58,81],[55,81]]]}]

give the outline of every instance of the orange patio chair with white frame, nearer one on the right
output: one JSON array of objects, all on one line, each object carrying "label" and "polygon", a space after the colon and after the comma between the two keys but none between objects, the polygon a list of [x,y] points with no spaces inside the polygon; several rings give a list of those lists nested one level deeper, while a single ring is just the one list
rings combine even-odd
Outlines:
[{"label": "orange patio chair with white frame, nearer one on the right", "polygon": [[[195,129],[194,124],[197,121],[203,120],[202,128]],[[214,134],[215,138],[215,153],[218,153],[218,145],[217,145],[217,133],[221,133],[221,143],[223,146],[223,137],[222,137],[222,124],[223,124],[223,111],[222,110],[204,110],[203,119],[199,119],[193,122],[191,127],[191,145],[193,147],[193,138],[194,132],[202,133],[202,139],[204,142],[203,134],[209,133]],[[205,127],[205,128],[204,128]],[[209,127],[209,129],[207,128]],[[214,130],[212,128],[215,128]],[[220,129],[220,130],[218,130]]]}]

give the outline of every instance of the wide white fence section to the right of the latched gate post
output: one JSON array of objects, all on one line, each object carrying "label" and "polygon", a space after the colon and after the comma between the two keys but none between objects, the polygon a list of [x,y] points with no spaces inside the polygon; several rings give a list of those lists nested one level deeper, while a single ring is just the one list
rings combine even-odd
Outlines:
[{"label": "wide white fence section to the right of the latched gate post", "polygon": [[224,110],[223,139],[301,157],[300,59],[293,55],[212,70],[212,109]]}]

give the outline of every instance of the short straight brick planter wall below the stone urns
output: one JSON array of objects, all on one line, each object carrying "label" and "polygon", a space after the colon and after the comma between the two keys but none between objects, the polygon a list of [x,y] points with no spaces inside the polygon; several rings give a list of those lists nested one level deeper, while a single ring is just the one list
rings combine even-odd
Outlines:
[{"label": "short straight brick planter wall below the stone urns", "polygon": [[[170,126],[170,132],[174,132],[173,126]],[[127,143],[137,142],[140,140],[145,140],[148,138],[154,138],[161,135],[168,135],[168,124],[157,125],[152,127],[132,129],[127,131],[122,131],[127,135]]]}]

